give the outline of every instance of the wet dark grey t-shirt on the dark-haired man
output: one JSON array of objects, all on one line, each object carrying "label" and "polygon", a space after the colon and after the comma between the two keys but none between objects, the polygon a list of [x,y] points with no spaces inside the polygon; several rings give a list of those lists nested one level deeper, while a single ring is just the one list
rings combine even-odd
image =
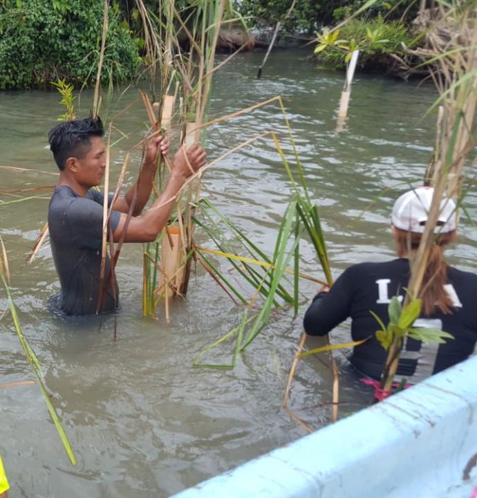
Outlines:
[{"label": "wet dark grey t-shirt on the dark-haired man", "polygon": [[[90,189],[79,196],[71,187],[56,187],[48,209],[48,229],[51,250],[62,286],[59,306],[66,315],[96,313],[100,291],[104,196]],[[111,202],[111,199],[109,200]],[[111,213],[113,231],[118,226],[120,212]],[[106,257],[105,276],[109,275]],[[113,311],[116,303],[110,285],[104,293],[101,312]]]}]

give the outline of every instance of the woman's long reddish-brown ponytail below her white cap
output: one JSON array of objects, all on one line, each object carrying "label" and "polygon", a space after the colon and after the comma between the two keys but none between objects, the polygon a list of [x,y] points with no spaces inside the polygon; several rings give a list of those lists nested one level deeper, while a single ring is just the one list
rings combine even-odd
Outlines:
[{"label": "woman's long reddish-brown ponytail below her white cap", "polygon": [[[408,257],[412,250],[419,247],[422,234],[407,232],[394,227],[396,250],[399,257]],[[422,299],[422,310],[424,315],[431,315],[436,306],[445,315],[452,313],[453,304],[449,294],[445,291],[447,284],[447,263],[442,254],[444,246],[456,238],[456,230],[436,235],[436,239],[429,251],[427,268],[424,272],[424,285],[420,291]]]}]

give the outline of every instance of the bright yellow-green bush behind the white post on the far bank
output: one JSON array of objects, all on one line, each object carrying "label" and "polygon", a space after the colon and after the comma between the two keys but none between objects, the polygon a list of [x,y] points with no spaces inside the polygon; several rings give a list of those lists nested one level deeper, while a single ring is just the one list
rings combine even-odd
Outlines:
[{"label": "bright yellow-green bush behind the white post on the far bank", "polygon": [[[404,24],[399,21],[384,22],[381,15],[370,21],[353,19],[334,35],[331,38],[335,39],[330,40],[327,46],[321,43],[315,50],[321,62],[334,67],[346,66],[347,55],[353,50],[361,50],[359,64],[366,66],[375,55],[400,54],[404,47],[412,43]],[[319,41],[326,42],[326,36],[319,37]]]}]

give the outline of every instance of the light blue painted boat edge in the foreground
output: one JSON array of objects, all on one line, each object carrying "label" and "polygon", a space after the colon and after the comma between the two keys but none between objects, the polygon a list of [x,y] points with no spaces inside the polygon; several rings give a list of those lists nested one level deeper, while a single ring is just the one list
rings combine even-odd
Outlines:
[{"label": "light blue painted boat edge in the foreground", "polygon": [[174,498],[470,498],[477,357]]}]

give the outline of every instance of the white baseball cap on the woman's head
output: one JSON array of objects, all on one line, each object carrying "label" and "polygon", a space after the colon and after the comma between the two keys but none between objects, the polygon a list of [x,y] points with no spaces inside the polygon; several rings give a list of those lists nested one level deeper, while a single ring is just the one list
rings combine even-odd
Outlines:
[{"label": "white baseball cap on the woman's head", "polygon": [[[422,233],[431,209],[433,187],[418,187],[402,194],[393,206],[391,223],[396,228],[408,232]],[[434,233],[446,233],[456,230],[456,203],[443,197],[440,201],[440,213]]]}]

